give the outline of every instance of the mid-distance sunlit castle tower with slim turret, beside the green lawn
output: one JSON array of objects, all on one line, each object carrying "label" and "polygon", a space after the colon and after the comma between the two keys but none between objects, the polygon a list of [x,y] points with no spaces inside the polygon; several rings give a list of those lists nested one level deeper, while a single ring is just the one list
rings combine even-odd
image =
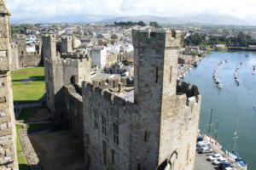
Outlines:
[{"label": "mid-distance sunlit castle tower with slim turret, beside the green lawn", "polygon": [[[61,40],[65,44],[73,42],[71,37]],[[55,35],[43,38],[43,54],[47,106],[52,116],[59,119],[61,110],[56,111],[55,108],[61,107],[63,103],[61,88],[75,84],[81,86],[82,81],[90,82],[90,56],[85,53],[57,54]]]}]

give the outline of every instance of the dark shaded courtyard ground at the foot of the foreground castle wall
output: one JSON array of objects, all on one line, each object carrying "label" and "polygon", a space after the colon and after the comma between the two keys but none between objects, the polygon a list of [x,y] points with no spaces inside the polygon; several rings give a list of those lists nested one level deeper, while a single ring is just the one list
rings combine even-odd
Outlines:
[{"label": "dark shaded courtyard ground at the foot of the foreground castle wall", "polygon": [[82,142],[69,130],[28,134],[43,170],[79,170],[83,167]]}]

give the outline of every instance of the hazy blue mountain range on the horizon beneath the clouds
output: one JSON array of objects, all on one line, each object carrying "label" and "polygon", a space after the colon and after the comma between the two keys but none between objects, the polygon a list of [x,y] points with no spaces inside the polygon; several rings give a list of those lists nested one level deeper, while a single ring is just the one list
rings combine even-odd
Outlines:
[{"label": "hazy blue mountain range on the horizon beneath the clouds", "polygon": [[256,20],[241,20],[236,17],[218,14],[190,14],[179,17],[159,17],[150,15],[114,17],[111,15],[61,15],[54,17],[30,18],[15,20],[11,18],[12,24],[32,24],[32,23],[102,23],[111,24],[114,21],[157,21],[160,24],[206,24],[206,25],[235,25],[235,26],[256,26]]}]

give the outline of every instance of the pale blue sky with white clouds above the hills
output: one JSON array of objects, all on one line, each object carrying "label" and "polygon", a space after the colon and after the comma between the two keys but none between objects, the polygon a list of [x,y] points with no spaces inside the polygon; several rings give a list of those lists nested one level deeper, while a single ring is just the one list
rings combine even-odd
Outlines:
[{"label": "pale blue sky with white clouds above the hills", "polygon": [[256,19],[256,0],[6,0],[15,19],[67,14],[113,16],[225,14]]}]

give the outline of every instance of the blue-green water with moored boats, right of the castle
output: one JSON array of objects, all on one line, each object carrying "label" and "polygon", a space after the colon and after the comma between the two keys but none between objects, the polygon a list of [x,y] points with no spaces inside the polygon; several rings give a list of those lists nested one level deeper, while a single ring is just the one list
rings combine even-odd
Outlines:
[{"label": "blue-green water with moored boats, right of the castle", "polygon": [[[218,77],[224,84],[224,88],[219,89],[212,73],[215,65],[224,59],[229,62],[218,67]],[[239,65],[240,85],[237,86],[233,75]],[[208,133],[212,109],[210,134],[215,136],[218,120],[217,139],[225,149],[230,145],[232,150],[232,137],[239,120],[237,150],[249,170],[256,169],[256,109],[253,108],[256,108],[256,74],[253,75],[253,65],[256,65],[256,52],[212,52],[183,80],[197,85],[201,92],[201,133]]]}]

